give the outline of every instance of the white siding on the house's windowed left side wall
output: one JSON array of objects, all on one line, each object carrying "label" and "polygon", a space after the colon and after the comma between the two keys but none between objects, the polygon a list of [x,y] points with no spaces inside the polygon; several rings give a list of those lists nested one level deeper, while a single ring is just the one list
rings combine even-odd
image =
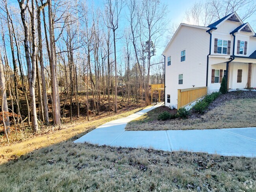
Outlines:
[{"label": "white siding on the house's windowed left side wall", "polygon": [[[206,61],[209,54],[209,34],[204,29],[181,26],[172,42],[163,53],[171,55],[171,66],[165,68],[165,105],[177,107],[178,89],[204,87],[206,85]],[[189,34],[189,35],[187,35]],[[197,45],[197,46],[195,46]],[[186,61],[180,62],[181,51],[186,49]],[[189,58],[189,59],[188,59]],[[178,75],[183,74],[183,84],[178,84]],[[170,103],[167,94],[171,93]]]}]

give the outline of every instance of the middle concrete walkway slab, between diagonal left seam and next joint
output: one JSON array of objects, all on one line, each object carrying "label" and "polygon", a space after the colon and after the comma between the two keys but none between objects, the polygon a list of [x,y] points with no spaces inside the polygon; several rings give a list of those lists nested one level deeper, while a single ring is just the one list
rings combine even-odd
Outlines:
[{"label": "middle concrete walkway slab, between diagonal left seam and next joint", "polygon": [[125,131],[111,146],[171,151],[166,131]]}]

